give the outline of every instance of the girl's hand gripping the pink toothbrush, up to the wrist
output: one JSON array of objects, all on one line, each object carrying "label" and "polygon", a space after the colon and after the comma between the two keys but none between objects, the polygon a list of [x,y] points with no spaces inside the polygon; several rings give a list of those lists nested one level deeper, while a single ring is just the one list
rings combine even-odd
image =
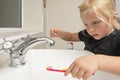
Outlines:
[{"label": "girl's hand gripping the pink toothbrush, up to the wrist", "polygon": [[65,76],[71,73],[73,77],[87,80],[98,70],[98,61],[94,55],[77,58],[65,72]]}]

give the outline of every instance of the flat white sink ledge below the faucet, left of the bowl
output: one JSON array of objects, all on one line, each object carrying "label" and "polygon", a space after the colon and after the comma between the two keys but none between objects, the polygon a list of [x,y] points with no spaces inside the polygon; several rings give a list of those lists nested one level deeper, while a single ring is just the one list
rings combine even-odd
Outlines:
[{"label": "flat white sink ledge below the faucet, left of the bowl", "polygon": [[26,64],[20,68],[4,67],[0,69],[0,80],[34,80],[30,66]]}]

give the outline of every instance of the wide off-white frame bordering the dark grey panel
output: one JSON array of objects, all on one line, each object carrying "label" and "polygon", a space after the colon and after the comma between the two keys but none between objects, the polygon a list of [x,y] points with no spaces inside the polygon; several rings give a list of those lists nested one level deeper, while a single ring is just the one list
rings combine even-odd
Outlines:
[{"label": "wide off-white frame bordering the dark grey panel", "polygon": [[22,0],[22,28],[0,28],[0,32],[43,32],[43,0]]}]

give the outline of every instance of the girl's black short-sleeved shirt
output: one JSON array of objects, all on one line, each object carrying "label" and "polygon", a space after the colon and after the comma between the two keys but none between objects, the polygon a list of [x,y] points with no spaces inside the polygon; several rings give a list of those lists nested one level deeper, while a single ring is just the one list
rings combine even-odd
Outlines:
[{"label": "girl's black short-sleeved shirt", "polygon": [[84,42],[85,50],[95,54],[120,56],[120,30],[115,30],[100,40],[94,39],[86,30],[80,31],[78,36]]}]

